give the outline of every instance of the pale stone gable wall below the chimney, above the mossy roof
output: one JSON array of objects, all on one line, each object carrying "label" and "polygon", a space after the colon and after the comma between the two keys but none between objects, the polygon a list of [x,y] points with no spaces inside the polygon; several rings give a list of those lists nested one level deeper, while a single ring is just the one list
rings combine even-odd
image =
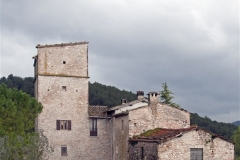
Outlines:
[{"label": "pale stone gable wall below the chimney, above the mossy roof", "polygon": [[129,111],[129,136],[139,135],[155,128],[179,129],[190,127],[190,114],[161,103]]}]

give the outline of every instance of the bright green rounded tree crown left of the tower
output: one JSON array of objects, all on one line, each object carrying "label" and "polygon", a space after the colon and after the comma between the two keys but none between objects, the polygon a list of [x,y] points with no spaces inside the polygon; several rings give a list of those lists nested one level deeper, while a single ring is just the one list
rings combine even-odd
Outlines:
[{"label": "bright green rounded tree crown left of the tower", "polygon": [[0,85],[0,136],[31,131],[41,111],[42,105],[30,95]]}]

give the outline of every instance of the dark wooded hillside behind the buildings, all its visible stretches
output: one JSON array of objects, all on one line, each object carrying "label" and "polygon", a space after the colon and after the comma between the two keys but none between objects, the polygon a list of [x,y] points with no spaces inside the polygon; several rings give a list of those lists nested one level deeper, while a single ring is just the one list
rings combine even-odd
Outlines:
[{"label": "dark wooded hillside behind the buildings, all its visible stretches", "polygon": [[[17,88],[33,96],[33,78],[21,78],[18,76],[9,75],[7,78],[2,77],[0,83],[6,84],[9,88]],[[124,90],[119,90],[113,86],[106,86],[97,82],[89,83],[89,104],[103,105],[113,107],[121,103],[121,99],[128,101],[135,100],[136,94]],[[223,123],[212,121],[208,117],[200,117],[197,113],[191,114],[191,125],[198,125],[199,127],[208,130],[214,134],[219,134],[227,139],[230,139],[237,126],[230,123]]]}]

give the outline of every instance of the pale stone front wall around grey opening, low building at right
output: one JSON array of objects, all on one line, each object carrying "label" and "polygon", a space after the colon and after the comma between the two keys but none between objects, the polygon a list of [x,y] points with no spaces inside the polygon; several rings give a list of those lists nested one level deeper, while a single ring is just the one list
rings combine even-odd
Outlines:
[{"label": "pale stone front wall around grey opening, low building at right", "polygon": [[203,159],[234,160],[232,143],[222,139],[212,140],[211,134],[203,130],[193,130],[159,144],[158,156],[161,160],[190,159],[190,148],[202,148]]}]

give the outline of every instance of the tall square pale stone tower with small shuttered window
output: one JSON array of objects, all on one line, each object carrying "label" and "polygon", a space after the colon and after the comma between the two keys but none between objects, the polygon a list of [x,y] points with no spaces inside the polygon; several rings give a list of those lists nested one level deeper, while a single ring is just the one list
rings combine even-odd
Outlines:
[{"label": "tall square pale stone tower with small shuttered window", "polygon": [[54,148],[50,159],[88,159],[88,42],[37,45],[36,129]]}]

